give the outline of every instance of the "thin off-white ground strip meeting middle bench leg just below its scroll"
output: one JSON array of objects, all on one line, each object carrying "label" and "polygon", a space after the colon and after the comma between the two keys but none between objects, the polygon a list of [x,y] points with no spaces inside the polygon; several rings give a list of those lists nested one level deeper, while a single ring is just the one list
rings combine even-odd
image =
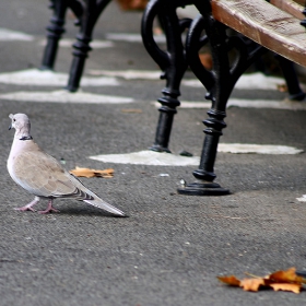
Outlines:
[{"label": "thin off-white ground strip meeting middle bench leg just below its scroll", "polygon": [[160,80],[161,71],[145,70],[89,70],[90,75],[106,75],[125,80]]}]

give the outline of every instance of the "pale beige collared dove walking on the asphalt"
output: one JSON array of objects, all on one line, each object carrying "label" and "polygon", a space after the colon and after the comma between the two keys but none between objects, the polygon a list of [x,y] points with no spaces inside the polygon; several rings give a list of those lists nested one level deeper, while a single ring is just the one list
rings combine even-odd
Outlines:
[{"label": "pale beige collared dove walking on the asphalt", "polygon": [[68,198],[84,201],[96,208],[106,210],[114,215],[123,216],[125,213],[106,203],[94,192],[89,190],[80,180],[68,173],[52,156],[43,152],[33,141],[30,133],[30,119],[24,114],[9,116],[15,134],[8,158],[8,170],[12,179],[34,195],[35,198],[27,205],[17,208],[20,211],[34,211],[33,207],[40,199],[48,199],[48,208],[39,213],[57,212],[52,207],[54,199]]}]

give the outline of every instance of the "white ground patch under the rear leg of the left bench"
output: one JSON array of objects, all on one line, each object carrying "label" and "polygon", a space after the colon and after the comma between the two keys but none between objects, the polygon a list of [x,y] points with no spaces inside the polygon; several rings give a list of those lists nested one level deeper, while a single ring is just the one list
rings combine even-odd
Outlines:
[{"label": "white ground patch under the rear leg of the left bench", "polygon": [[[0,83],[35,86],[66,86],[68,74],[48,70],[28,69],[0,73]],[[83,76],[81,86],[119,86],[115,78]]]}]

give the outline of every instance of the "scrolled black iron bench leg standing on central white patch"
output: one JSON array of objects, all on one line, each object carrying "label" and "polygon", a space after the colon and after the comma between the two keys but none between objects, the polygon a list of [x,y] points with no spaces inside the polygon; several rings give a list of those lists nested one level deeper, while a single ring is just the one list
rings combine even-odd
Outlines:
[{"label": "scrolled black iron bench leg standing on central white patch", "polygon": [[[178,96],[179,86],[187,69],[185,49],[181,43],[181,32],[189,27],[191,20],[178,20],[176,14],[179,2],[169,0],[151,0],[144,10],[142,17],[141,34],[144,47],[153,60],[161,67],[161,79],[166,80],[166,86],[162,90],[163,96],[157,101],[160,119],[155,133],[155,142],[150,148],[157,152],[170,152],[168,149],[170,131],[176,107],[180,105]],[[158,17],[167,40],[167,51],[160,49],[153,36],[153,22]]]}]

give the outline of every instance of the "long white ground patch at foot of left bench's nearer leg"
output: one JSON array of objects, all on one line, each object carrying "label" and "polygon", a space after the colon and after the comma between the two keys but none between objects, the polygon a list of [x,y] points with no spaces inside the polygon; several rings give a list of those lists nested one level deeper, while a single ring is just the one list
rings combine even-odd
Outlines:
[{"label": "long white ground patch at foot of left bench's nearer leg", "polygon": [[131,97],[98,95],[84,93],[82,91],[70,93],[64,90],[54,92],[13,92],[0,94],[0,98],[23,102],[82,104],[126,104],[134,102]]}]

